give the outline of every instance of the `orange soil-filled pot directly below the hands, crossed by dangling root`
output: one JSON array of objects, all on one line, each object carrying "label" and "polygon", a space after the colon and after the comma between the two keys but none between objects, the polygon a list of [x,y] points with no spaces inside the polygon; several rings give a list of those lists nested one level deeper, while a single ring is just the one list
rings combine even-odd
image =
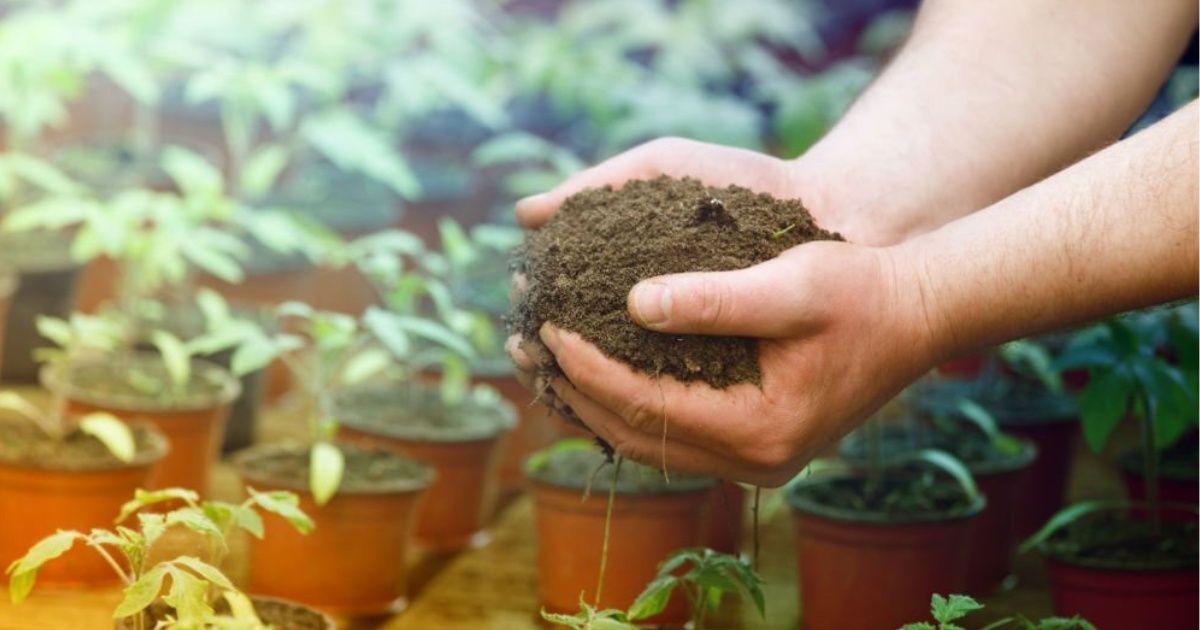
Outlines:
[{"label": "orange soil-filled pot directly below the hands, crossed by dangling root", "polygon": [[[566,450],[551,451],[529,467],[538,528],[539,595],[548,612],[578,612],[580,593],[584,601],[595,601],[613,473],[612,464],[595,473],[601,462],[604,455],[596,450]],[[583,498],[589,479],[594,479],[592,492]],[[703,523],[715,484],[710,478],[674,473],[667,482],[654,468],[622,463],[600,608],[626,610],[654,578],[664,558],[704,542]],[[662,614],[647,619],[647,624],[679,625],[686,620],[684,598],[676,596]]]}]

